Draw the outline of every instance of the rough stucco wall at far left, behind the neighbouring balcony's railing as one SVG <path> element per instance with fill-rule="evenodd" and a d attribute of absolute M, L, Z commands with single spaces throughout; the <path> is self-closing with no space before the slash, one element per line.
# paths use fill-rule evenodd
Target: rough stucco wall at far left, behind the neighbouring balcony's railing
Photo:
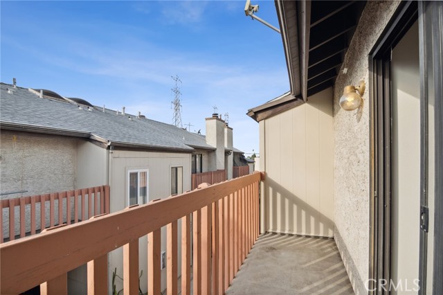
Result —
<path fill-rule="evenodd" d="M 0 196 L 12 199 L 44 193 L 73 190 L 77 182 L 77 145 L 79 140 L 67 136 L 31 134 L 27 132 L 1 131 L 0 189 L 1 193 L 26 190 Z M 55 206 L 58 202 L 55 201 Z M 30 206 L 25 214 L 30 215 Z M 36 209 L 40 215 L 39 206 Z M 49 202 L 46 202 L 46 224 L 49 224 Z M 64 217 L 65 218 L 65 217 Z M 19 208 L 15 209 L 15 235 L 19 234 Z M 58 211 L 55 212 L 58 220 Z M 9 237 L 9 211 L 3 209 L 3 236 Z M 40 229 L 40 219 L 36 220 Z M 26 221 L 26 232 L 30 231 L 30 220 Z"/>

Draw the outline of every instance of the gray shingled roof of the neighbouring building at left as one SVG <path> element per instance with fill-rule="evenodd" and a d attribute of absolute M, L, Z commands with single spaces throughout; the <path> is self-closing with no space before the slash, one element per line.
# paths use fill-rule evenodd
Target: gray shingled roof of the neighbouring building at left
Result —
<path fill-rule="evenodd" d="M 131 119 L 129 119 L 131 118 Z M 205 137 L 179 127 L 96 107 L 89 111 L 73 102 L 39 98 L 37 93 L 1 83 L 1 129 L 103 138 L 111 144 L 192 152 L 215 150 Z"/>

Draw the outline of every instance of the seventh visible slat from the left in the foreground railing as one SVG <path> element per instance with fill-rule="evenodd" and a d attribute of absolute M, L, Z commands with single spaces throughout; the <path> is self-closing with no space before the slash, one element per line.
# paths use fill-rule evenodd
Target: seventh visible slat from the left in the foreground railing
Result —
<path fill-rule="evenodd" d="M 201 212 L 200 210 L 192 213 L 192 294 L 201 294 Z"/>

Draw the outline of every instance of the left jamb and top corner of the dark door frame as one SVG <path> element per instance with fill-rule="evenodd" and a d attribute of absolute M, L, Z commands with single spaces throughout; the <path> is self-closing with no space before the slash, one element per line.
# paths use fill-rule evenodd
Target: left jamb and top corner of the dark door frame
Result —
<path fill-rule="evenodd" d="M 417 2 L 403 1 L 369 55 L 370 84 L 370 294 L 389 294 L 378 288 L 390 282 L 391 252 L 391 77 L 392 48 L 417 21 Z M 418 210 L 418 208 L 417 208 Z"/>

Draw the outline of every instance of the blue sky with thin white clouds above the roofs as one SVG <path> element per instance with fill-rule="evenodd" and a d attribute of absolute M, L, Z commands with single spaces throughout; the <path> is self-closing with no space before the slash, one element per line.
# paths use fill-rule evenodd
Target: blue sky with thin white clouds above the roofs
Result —
<path fill-rule="evenodd" d="M 245 2 L 1 1 L 1 81 L 172 123 L 179 75 L 183 124 L 204 133 L 216 105 L 235 147 L 257 152 L 246 111 L 289 82 L 280 35 L 246 17 Z M 273 1 L 252 3 L 278 26 Z"/>

